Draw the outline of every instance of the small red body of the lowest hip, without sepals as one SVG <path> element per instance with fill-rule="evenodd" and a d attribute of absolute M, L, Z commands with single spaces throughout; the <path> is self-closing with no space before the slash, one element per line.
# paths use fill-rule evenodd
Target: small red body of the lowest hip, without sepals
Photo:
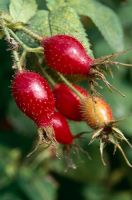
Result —
<path fill-rule="evenodd" d="M 52 126 L 54 128 L 55 138 L 60 144 L 72 144 L 73 135 L 70 131 L 69 125 L 63 115 L 55 112 L 52 118 Z"/>

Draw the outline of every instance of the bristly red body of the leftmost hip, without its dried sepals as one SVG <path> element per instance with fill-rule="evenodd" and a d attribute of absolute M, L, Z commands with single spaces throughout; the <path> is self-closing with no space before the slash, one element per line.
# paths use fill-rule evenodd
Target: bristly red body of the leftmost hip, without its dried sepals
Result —
<path fill-rule="evenodd" d="M 54 97 L 41 75 L 26 70 L 17 72 L 11 88 L 13 98 L 22 112 L 38 127 L 49 125 L 54 114 Z"/>

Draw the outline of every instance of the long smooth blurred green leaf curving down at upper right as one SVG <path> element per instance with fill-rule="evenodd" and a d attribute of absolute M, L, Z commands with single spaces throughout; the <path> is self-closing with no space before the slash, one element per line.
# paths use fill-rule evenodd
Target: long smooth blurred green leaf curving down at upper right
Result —
<path fill-rule="evenodd" d="M 80 15 L 91 18 L 113 50 L 123 50 L 122 26 L 112 9 L 94 0 L 68 0 L 68 3 Z"/>

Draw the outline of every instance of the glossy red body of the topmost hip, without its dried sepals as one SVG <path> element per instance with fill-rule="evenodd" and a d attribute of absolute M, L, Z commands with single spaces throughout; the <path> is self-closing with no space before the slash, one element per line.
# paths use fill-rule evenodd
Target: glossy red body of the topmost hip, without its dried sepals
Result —
<path fill-rule="evenodd" d="M 82 44 L 69 35 L 55 35 L 42 40 L 48 66 L 63 74 L 88 75 L 93 59 Z"/>

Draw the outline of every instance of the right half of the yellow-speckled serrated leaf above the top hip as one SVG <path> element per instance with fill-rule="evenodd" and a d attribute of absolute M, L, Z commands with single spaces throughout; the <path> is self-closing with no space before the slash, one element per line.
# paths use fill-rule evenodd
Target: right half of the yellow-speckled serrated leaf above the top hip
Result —
<path fill-rule="evenodd" d="M 82 42 L 89 55 L 93 56 L 85 30 L 75 10 L 71 7 L 61 7 L 50 12 L 49 24 L 51 34 L 69 34 Z"/>

